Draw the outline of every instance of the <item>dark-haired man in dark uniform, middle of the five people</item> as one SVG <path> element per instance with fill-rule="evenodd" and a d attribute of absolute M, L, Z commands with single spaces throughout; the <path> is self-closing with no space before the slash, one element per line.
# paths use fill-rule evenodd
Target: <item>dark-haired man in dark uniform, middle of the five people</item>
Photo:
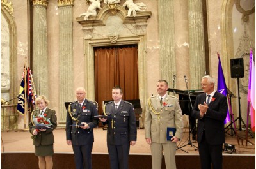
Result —
<path fill-rule="evenodd" d="M 130 145 L 137 139 L 136 118 L 133 105 L 122 100 L 120 87 L 113 87 L 113 101 L 104 105 L 107 118 L 100 119 L 108 124 L 107 145 L 111 169 L 127 169 Z"/>

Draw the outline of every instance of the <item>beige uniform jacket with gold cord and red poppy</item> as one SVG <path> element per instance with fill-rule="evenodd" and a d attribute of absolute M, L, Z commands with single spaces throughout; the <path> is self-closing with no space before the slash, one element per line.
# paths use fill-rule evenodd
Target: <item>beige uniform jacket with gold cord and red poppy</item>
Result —
<path fill-rule="evenodd" d="M 148 99 L 145 112 L 145 138 L 151 138 L 155 143 L 170 143 L 166 138 L 167 127 L 176 128 L 175 137 L 181 138 L 183 121 L 179 101 L 167 95 L 161 106 L 159 97 L 152 96 Z"/>

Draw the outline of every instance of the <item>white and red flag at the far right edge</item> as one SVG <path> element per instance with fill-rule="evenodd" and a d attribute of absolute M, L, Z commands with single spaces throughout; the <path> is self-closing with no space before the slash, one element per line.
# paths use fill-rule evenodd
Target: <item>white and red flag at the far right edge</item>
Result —
<path fill-rule="evenodd" d="M 250 71 L 248 80 L 248 102 L 250 102 L 251 129 L 255 132 L 255 65 L 252 49 L 250 50 Z"/>

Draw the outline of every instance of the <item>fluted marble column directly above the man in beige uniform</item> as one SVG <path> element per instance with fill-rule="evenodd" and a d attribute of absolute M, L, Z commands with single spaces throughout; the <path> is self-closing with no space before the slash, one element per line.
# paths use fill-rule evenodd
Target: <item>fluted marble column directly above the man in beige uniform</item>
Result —
<path fill-rule="evenodd" d="M 158 12 L 160 77 L 171 82 L 176 75 L 173 0 L 159 0 Z"/>

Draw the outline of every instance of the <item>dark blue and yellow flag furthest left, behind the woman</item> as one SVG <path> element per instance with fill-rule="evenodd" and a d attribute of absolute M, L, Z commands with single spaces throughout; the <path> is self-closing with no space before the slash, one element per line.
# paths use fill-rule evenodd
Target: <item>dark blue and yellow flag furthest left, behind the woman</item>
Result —
<path fill-rule="evenodd" d="M 20 91 L 19 91 L 19 98 L 17 104 L 17 111 L 19 114 L 24 115 L 25 113 L 25 104 L 26 104 L 26 67 L 24 66 L 22 72 L 22 80 L 20 83 Z"/>

